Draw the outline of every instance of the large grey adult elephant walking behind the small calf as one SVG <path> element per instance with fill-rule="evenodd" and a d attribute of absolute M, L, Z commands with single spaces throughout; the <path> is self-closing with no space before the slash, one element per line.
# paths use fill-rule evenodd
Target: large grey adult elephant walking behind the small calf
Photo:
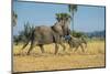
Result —
<path fill-rule="evenodd" d="M 31 34 L 31 39 L 24 44 L 22 50 L 29 44 L 31 41 L 31 46 L 28 51 L 28 55 L 33 50 L 35 45 L 41 47 L 42 53 L 44 53 L 44 44 L 55 43 L 55 54 L 58 51 L 58 44 L 61 44 L 65 51 L 65 45 L 63 43 L 63 38 L 68 35 L 70 30 L 68 28 L 67 21 L 56 22 L 53 27 L 41 25 L 36 27 Z"/>

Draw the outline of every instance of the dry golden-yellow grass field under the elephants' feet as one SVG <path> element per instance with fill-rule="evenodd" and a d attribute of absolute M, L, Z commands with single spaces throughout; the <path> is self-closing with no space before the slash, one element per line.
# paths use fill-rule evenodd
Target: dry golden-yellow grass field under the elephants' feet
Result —
<path fill-rule="evenodd" d="M 68 50 L 63 52 L 59 46 L 58 54 L 55 55 L 54 44 L 44 45 L 46 53 L 41 53 L 38 46 L 34 47 L 30 55 L 25 55 L 30 45 L 22 52 L 20 45 L 13 45 L 13 72 L 30 72 L 30 71 L 51 71 L 51 70 L 67 70 L 67 68 L 87 68 L 87 67 L 105 67 L 105 42 L 91 41 L 88 42 L 85 53 L 78 49 L 76 52 Z M 18 54 L 22 55 L 18 55 Z"/>

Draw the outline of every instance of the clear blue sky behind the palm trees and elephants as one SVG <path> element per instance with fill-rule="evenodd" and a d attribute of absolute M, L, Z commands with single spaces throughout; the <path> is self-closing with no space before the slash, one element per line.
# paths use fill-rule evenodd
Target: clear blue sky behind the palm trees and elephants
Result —
<path fill-rule="evenodd" d="M 13 27 L 13 34 L 19 34 L 26 22 L 34 27 L 53 25 L 56 22 L 55 13 L 69 13 L 67 6 L 13 1 L 12 10 L 18 14 L 18 22 Z M 72 24 L 69 28 L 73 29 Z M 74 30 L 82 32 L 105 30 L 105 7 L 78 6 L 77 12 L 74 15 Z"/>

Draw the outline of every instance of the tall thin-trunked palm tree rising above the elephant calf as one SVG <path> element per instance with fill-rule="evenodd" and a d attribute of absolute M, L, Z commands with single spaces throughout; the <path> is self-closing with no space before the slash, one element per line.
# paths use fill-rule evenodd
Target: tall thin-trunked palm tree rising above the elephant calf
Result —
<path fill-rule="evenodd" d="M 74 31 L 74 14 L 77 11 L 77 4 L 68 4 L 68 11 L 70 12 L 72 25 L 73 25 L 73 31 Z"/>

